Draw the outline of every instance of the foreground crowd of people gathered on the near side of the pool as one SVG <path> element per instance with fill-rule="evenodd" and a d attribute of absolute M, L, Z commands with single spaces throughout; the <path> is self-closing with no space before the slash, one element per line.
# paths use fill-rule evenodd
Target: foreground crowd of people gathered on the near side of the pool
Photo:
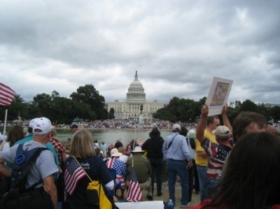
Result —
<path fill-rule="evenodd" d="M 162 125 L 172 129 L 165 139 L 159 127 L 149 127 L 147 140 L 133 139 L 128 145 L 120 140 L 115 145 L 98 143 L 77 124 L 71 126 L 72 138 L 62 143 L 50 120 L 36 118 L 29 121 L 26 133 L 13 126 L 1 144 L 1 178 L 11 175 L 23 143 L 23 150 L 48 148 L 27 174 L 25 187 L 42 180 L 36 188 L 48 194 L 52 208 L 91 208 L 86 194 L 89 179 L 102 180 L 113 201 L 142 201 L 144 191 L 153 201 L 153 196 L 162 196 L 165 161 L 169 199 L 175 205 L 179 198 L 180 208 L 280 208 L 280 138 L 275 127 L 253 112 L 239 113 L 231 125 L 227 111 L 225 105 L 222 125 L 218 116 L 208 115 L 205 105 L 198 124 Z M 130 190 L 135 179 L 137 195 Z M 175 195 L 178 181 L 181 196 Z M 192 204 L 193 191 L 200 194 L 198 206 Z"/>

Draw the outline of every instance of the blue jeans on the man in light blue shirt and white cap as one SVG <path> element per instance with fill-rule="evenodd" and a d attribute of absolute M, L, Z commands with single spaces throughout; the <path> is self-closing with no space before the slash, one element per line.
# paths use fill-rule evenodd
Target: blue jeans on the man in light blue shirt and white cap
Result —
<path fill-rule="evenodd" d="M 167 159 L 167 178 L 169 199 L 172 199 L 175 204 L 175 183 L 176 175 L 178 174 L 181 179 L 181 205 L 188 204 L 188 168 L 186 168 L 186 160 L 173 160 Z"/>

